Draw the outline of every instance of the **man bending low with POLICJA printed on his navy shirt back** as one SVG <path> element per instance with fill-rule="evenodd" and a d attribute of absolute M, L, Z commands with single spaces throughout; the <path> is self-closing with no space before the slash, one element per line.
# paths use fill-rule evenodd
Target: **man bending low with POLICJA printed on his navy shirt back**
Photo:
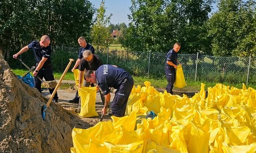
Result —
<path fill-rule="evenodd" d="M 90 83 L 98 83 L 98 87 L 105 95 L 105 105 L 102 114 L 106 114 L 110 102 L 110 88 L 117 89 L 111 103 L 112 114 L 116 117 L 125 115 L 126 105 L 130 92 L 134 86 L 134 80 L 125 70 L 113 65 L 102 65 L 97 71 L 85 71 L 85 80 Z"/>

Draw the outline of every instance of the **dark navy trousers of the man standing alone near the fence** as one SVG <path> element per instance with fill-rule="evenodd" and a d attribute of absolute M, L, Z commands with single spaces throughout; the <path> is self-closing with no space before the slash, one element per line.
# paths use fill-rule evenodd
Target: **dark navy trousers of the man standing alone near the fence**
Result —
<path fill-rule="evenodd" d="M 171 69 L 170 67 L 167 67 L 167 66 L 164 68 L 164 71 L 168 81 L 166 90 L 168 93 L 173 94 L 172 89 L 175 82 L 176 71 L 175 69 Z"/>

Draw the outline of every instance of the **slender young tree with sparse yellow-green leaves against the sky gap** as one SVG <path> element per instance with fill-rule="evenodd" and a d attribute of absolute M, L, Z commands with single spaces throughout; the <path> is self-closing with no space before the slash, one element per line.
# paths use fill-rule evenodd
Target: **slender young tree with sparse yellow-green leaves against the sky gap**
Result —
<path fill-rule="evenodd" d="M 108 47 L 109 40 L 111 36 L 109 33 L 108 24 L 110 24 L 110 18 L 112 14 L 106 16 L 105 1 L 102 0 L 100 8 L 97 10 L 97 16 L 95 24 L 93 25 L 91 36 L 93 38 L 93 43 L 97 45 L 97 50 L 99 47 Z"/>

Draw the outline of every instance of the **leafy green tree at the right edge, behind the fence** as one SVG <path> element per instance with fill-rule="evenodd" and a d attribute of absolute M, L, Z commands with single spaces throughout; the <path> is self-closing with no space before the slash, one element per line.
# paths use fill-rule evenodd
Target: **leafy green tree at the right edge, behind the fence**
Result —
<path fill-rule="evenodd" d="M 214 55 L 255 55 L 255 1 L 221 0 L 219 10 L 208 22 Z"/>

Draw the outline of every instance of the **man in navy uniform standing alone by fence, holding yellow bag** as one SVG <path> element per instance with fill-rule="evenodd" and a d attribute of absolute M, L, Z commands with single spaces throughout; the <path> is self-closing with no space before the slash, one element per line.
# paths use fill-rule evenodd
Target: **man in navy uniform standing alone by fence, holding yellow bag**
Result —
<path fill-rule="evenodd" d="M 168 81 L 166 90 L 170 94 L 173 94 L 172 89 L 173 89 L 175 76 L 176 76 L 175 69 L 177 69 L 177 64 L 179 64 L 178 54 L 177 54 L 179 49 L 180 49 L 180 43 L 175 43 L 173 46 L 173 49 L 171 49 L 167 53 L 167 62 L 164 70 L 165 70 L 165 75 Z"/>

